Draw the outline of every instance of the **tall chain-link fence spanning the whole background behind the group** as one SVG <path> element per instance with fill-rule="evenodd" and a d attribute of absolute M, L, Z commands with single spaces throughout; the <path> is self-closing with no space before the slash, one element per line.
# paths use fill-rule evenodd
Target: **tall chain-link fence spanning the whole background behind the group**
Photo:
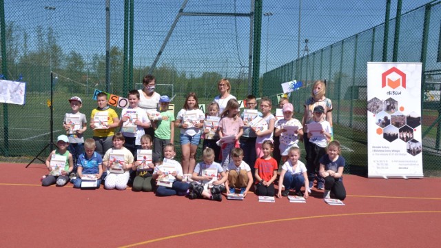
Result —
<path fill-rule="evenodd" d="M 334 111 L 335 133 L 360 144 L 347 145 L 356 152 L 344 155 L 351 167 L 367 163 L 366 115 L 362 114 L 366 113 L 365 61 L 382 61 L 387 1 L 2 2 L 5 29 L 0 31 L 6 42 L 2 43 L 1 73 L 10 80 L 23 76 L 27 95 L 25 105 L 0 108 L 1 161 L 23 158 L 28 162 L 50 141 L 52 71 L 54 136 L 63 133 L 61 123 L 70 110 L 71 96 L 83 99 L 81 112 L 90 121 L 95 89 L 125 96 L 140 87 L 147 73 L 156 76 L 156 92 L 175 96 L 177 110 L 190 91 L 198 94 L 201 103 L 212 101 L 221 78 L 232 82 L 232 94 L 238 99 L 254 92 L 274 101 L 281 92 L 280 83 L 298 79 L 308 83 L 292 97 L 296 111 L 302 112 L 309 83 L 327 79 L 327 96 L 338 110 Z M 431 52 L 427 52 L 425 72 L 426 81 L 432 82 L 431 94 L 439 92 L 438 1 L 403 0 L 398 6 L 399 2 L 390 1 L 387 58 L 392 56 L 398 8 L 402 13 L 398 59 L 420 61 L 427 18 L 424 7 L 418 7 L 430 2 Z M 435 99 L 439 102 L 439 96 Z M 433 121 L 438 121 L 438 102 L 429 112 Z M 439 140 L 437 129 L 435 124 L 427 134 L 433 141 Z M 85 136 L 92 136 L 90 129 Z M 425 168 L 431 164 L 426 158 L 438 152 L 436 145 L 431 147 L 430 153 L 424 151 Z M 43 152 L 48 153 L 49 149 Z"/>

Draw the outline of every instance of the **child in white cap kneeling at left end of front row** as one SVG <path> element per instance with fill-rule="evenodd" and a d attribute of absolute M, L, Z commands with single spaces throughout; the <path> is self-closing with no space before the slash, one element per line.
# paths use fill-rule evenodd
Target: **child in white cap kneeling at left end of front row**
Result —
<path fill-rule="evenodd" d="M 64 186 L 69 182 L 69 174 L 74 169 L 74 162 L 72 161 L 72 154 L 68 151 L 69 138 L 65 135 L 60 135 L 57 138 L 57 149 L 54 149 L 46 158 L 45 165 L 48 167 L 49 174 L 41 180 L 41 186 L 50 186 L 57 183 L 58 186 Z M 50 161 L 53 159 L 59 160 L 64 157 L 64 167 L 58 169 L 52 167 Z"/>

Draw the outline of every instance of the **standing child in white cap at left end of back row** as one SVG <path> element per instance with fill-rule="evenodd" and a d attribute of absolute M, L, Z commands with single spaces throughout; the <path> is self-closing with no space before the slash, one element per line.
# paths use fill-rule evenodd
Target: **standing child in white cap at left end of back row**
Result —
<path fill-rule="evenodd" d="M 88 129 L 88 121 L 85 118 L 85 114 L 79 112 L 81 107 L 83 107 L 83 101 L 78 96 L 72 96 L 69 102 L 72 111 L 64 115 L 63 127 L 69 138 L 68 150 L 72 154 L 74 172 L 76 172 L 76 160 L 84 151 L 83 134 Z"/>

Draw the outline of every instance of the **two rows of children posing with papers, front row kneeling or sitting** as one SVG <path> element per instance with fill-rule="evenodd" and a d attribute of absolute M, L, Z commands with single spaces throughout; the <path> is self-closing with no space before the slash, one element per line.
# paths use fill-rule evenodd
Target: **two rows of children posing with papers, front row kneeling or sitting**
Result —
<path fill-rule="evenodd" d="M 218 104 L 211 103 L 205 116 L 198 108 L 196 94 L 189 93 L 175 120 L 173 114 L 167 112 L 168 96 L 161 96 L 159 119 L 151 118 L 138 107 L 139 98 L 139 92 L 131 90 L 128 94 L 129 107 L 123 109 L 121 118 L 118 118 L 107 105 L 107 94 L 99 93 L 96 96 L 98 107 L 90 116 L 94 135 L 84 140 L 87 121 L 85 115 L 79 112 L 82 101 L 77 96 L 72 97 L 69 100 L 72 112 L 66 114 L 63 121 L 67 135 L 57 138 L 58 149 L 52 151 L 46 160 L 50 174 L 43 178 L 42 185 L 65 185 L 70 180 L 70 174 L 76 173 L 72 179 L 75 188 L 81 187 L 84 175 L 93 175 L 98 180 L 97 188 L 103 180 L 105 189 L 126 189 L 129 184 L 134 192 L 154 191 L 157 196 L 180 195 L 220 201 L 224 191 L 234 194 L 238 189 L 239 194 L 247 196 L 254 189 L 258 196 L 276 195 L 280 198 L 288 196 L 292 190 L 297 196 L 308 198 L 311 174 L 317 174 L 324 178 L 325 198 L 329 198 L 332 192 L 336 198 L 345 199 L 345 187 L 342 185 L 345 160 L 340 156 L 340 143 L 329 143 L 329 123 L 322 118 L 321 106 L 314 108 L 314 122 L 322 125 L 322 130 L 318 130 L 320 134 L 315 134 L 314 130 L 303 134 L 302 124 L 293 118 L 294 107 L 287 98 L 280 99 L 283 117 L 278 119 L 271 114 L 271 100 L 261 99 L 260 112 L 256 114 L 258 122 L 248 118 L 243 120 L 236 99 L 230 99 L 221 113 Z M 255 96 L 247 96 L 248 110 L 256 110 L 257 105 Z M 212 125 L 207 125 L 205 120 L 209 119 L 214 120 Z M 72 128 L 78 123 L 79 127 Z M 115 133 L 116 127 L 121 127 L 121 132 Z M 154 137 L 145 134 L 144 129 L 148 127 L 155 128 Z M 174 160 L 175 127 L 181 129 L 181 163 Z M 307 153 L 313 169 L 305 167 L 299 160 L 298 141 L 302 135 L 307 135 L 309 141 L 316 144 Z M 273 136 L 277 142 L 274 142 Z M 196 164 L 201 138 L 202 161 Z M 276 147 L 274 143 L 278 143 Z M 152 159 L 147 164 L 136 159 L 139 149 L 153 150 Z M 273 153 L 276 159 L 271 156 Z M 119 158 L 112 154 L 119 154 Z M 65 157 L 65 167 L 60 174 L 52 173 L 51 159 L 54 155 Z M 280 158 L 282 167 L 278 192 L 275 192 Z M 116 168 L 119 172 L 114 172 Z M 305 192 L 300 191 L 302 186 L 305 186 Z"/>

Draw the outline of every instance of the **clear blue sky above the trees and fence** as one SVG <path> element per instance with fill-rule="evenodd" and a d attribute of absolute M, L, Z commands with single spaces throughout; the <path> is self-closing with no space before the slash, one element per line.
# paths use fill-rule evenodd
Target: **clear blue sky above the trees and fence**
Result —
<path fill-rule="evenodd" d="M 123 48 L 123 0 L 111 0 L 111 45 Z M 336 43 L 384 22 L 385 0 L 302 1 L 300 56 L 309 39 L 309 52 Z M 403 0 L 402 12 L 429 1 Z M 182 0 L 134 1 L 134 66 L 151 65 L 174 21 Z M 248 0 L 189 0 L 184 12 L 249 12 Z M 299 1 L 263 0 L 261 66 L 264 72 L 297 57 Z M 397 0 L 391 1 L 395 17 Z M 105 53 L 105 0 L 6 0 L 6 21 L 15 21 L 36 44 L 37 25 L 52 25 L 64 52 L 75 50 L 91 59 Z M 56 10 L 45 10 L 54 6 Z M 52 21 L 50 17 L 52 14 Z M 267 44 L 268 37 L 268 46 Z M 266 52 L 268 50 L 268 57 Z M 182 17 L 161 56 L 167 63 L 195 75 L 216 71 L 227 76 L 246 72 L 249 52 L 249 18 Z"/>

